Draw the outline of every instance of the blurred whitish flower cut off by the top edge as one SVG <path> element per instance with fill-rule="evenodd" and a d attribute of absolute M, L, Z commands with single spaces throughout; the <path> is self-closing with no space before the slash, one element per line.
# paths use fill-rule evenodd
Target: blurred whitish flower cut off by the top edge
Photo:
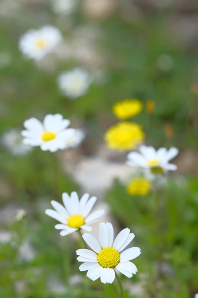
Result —
<path fill-rule="evenodd" d="M 77 0 L 51 0 L 51 6 L 54 12 L 68 15 L 75 10 Z"/>

